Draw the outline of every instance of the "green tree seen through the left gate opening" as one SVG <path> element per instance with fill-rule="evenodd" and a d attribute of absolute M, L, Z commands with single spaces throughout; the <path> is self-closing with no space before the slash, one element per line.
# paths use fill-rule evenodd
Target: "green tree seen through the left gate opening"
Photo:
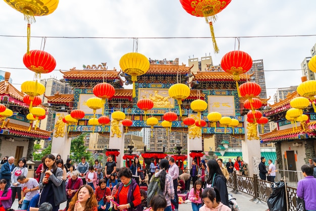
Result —
<path fill-rule="evenodd" d="M 90 159 L 91 153 L 87 151 L 88 147 L 84 145 L 85 136 L 86 133 L 82 133 L 81 135 L 71 140 L 70 158 L 73 162 L 80 162 L 82 156 L 86 157 L 86 161 Z"/>

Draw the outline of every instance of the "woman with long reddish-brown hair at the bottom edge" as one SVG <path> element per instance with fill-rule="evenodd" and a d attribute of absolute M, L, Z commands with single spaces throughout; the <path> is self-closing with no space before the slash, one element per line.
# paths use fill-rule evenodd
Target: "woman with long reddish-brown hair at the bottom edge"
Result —
<path fill-rule="evenodd" d="M 90 185 L 83 185 L 78 189 L 69 203 L 68 211 L 97 211 L 97 201 Z"/>

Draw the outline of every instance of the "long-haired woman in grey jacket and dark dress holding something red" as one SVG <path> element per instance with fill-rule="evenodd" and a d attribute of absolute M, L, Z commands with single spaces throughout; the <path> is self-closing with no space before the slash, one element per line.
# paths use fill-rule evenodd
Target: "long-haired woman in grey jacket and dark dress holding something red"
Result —
<path fill-rule="evenodd" d="M 53 154 L 48 154 L 44 157 L 43 168 L 44 172 L 41 174 L 38 184 L 39 189 L 42 190 L 39 203 L 48 202 L 52 205 L 52 211 L 58 211 L 59 204 L 55 204 L 55 195 L 52 186 L 63 184 L 63 170 L 57 167 Z"/>

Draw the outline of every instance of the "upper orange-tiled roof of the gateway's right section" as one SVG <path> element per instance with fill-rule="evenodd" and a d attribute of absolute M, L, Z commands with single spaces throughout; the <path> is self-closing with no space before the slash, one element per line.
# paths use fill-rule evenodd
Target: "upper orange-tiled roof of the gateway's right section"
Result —
<path fill-rule="evenodd" d="M 253 73 L 254 74 L 254 73 Z M 240 74 L 240 80 L 246 81 L 249 80 L 250 77 L 253 75 L 249 74 Z M 205 72 L 200 71 L 193 73 L 193 80 L 192 81 L 198 81 L 198 80 L 227 80 L 227 81 L 234 81 L 234 76 L 232 74 L 226 73 L 226 72 Z"/>

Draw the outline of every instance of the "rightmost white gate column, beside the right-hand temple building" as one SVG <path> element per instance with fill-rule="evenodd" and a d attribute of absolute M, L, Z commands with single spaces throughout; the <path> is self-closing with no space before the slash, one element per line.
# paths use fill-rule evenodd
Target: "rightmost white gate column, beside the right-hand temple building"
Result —
<path fill-rule="evenodd" d="M 247 115 L 244 115 L 244 120 L 245 137 L 244 140 L 241 141 L 242 160 L 247 163 L 248 175 L 259 175 L 258 165 L 261 157 L 260 140 L 259 138 L 248 139 L 247 133 L 250 132 L 250 128 L 248 128 Z M 256 136 L 259 137 L 258 126 L 256 126 L 256 130 Z"/>

